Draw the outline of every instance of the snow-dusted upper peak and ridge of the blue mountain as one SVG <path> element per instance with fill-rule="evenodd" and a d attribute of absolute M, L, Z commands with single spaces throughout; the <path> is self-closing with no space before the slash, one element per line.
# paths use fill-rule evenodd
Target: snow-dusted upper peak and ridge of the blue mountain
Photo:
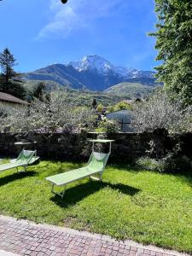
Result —
<path fill-rule="evenodd" d="M 154 73 L 150 71 L 142 71 L 136 68 L 128 67 L 116 67 L 99 55 L 87 55 L 84 56 L 80 61 L 72 61 L 68 63 L 68 65 L 72 65 L 79 72 L 87 70 L 96 70 L 98 73 L 102 75 L 114 73 L 119 77 L 129 79 L 143 76 L 152 78 L 154 76 Z"/>

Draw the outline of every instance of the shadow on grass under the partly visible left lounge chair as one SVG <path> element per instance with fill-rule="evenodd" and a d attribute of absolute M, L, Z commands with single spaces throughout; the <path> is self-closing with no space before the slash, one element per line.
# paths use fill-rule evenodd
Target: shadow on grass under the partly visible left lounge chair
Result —
<path fill-rule="evenodd" d="M 35 176 L 37 172 L 34 171 L 26 171 L 26 172 L 15 172 L 11 175 L 0 177 L 0 187 L 6 185 L 7 183 L 12 183 L 15 180 L 24 178 L 24 177 L 32 177 Z"/>

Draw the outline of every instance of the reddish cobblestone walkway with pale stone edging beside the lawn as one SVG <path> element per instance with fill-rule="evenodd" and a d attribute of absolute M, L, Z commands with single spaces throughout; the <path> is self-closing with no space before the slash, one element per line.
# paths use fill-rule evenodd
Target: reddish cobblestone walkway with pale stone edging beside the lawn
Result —
<path fill-rule="evenodd" d="M 109 236 L 90 234 L 47 224 L 34 224 L 0 216 L 0 256 L 168 256 L 187 255 L 158 247 L 144 247 L 133 241 L 115 241 Z M 3 254 L 4 253 L 4 254 Z"/>

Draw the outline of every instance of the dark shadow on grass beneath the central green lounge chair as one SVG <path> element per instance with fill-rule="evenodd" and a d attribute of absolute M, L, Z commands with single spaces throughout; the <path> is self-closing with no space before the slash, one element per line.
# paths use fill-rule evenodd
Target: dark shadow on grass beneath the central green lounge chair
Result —
<path fill-rule="evenodd" d="M 71 206 L 78 201 L 82 201 L 85 197 L 94 194 L 100 189 L 104 189 L 106 187 L 114 190 L 119 190 L 120 193 L 131 196 L 141 191 L 140 189 L 136 189 L 121 183 L 111 184 L 105 182 L 100 183 L 90 181 L 88 183 L 79 184 L 76 187 L 67 189 L 66 194 L 64 195 L 64 198 L 62 200 L 59 195 L 54 195 L 51 198 L 51 201 L 54 201 L 60 207 Z"/>

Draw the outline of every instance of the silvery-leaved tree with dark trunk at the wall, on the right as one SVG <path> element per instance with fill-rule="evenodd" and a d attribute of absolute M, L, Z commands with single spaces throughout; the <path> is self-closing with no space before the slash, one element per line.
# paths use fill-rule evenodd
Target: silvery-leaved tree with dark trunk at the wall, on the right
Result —
<path fill-rule="evenodd" d="M 169 132 L 191 131 L 191 107 L 173 102 L 166 91 L 156 90 L 147 102 L 137 103 L 132 112 L 132 125 L 137 131 L 151 132 L 150 156 L 164 157 L 169 144 Z"/>

